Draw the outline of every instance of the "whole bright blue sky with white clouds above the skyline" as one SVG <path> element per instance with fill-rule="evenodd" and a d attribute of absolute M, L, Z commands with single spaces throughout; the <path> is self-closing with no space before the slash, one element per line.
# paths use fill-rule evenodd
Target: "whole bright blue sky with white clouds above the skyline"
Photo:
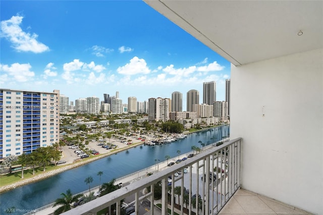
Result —
<path fill-rule="evenodd" d="M 59 89 L 70 101 L 200 92 L 225 99 L 230 63 L 140 1 L 1 1 L 1 88 Z"/>

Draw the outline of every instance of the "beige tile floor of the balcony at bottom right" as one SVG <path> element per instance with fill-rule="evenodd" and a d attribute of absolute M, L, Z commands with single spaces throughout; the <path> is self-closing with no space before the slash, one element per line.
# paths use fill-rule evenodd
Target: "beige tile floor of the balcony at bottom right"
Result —
<path fill-rule="evenodd" d="M 311 214 L 256 193 L 238 190 L 219 214 Z"/>

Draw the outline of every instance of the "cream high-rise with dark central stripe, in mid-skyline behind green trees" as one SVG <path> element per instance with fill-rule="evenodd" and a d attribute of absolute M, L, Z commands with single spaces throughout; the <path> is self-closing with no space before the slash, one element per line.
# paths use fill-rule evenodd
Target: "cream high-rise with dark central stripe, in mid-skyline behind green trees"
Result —
<path fill-rule="evenodd" d="M 149 121 L 166 122 L 170 119 L 170 100 L 169 98 L 149 98 Z"/>

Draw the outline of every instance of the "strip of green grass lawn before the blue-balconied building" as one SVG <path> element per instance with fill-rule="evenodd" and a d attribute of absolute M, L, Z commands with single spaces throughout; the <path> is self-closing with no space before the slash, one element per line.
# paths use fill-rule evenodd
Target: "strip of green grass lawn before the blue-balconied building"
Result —
<path fill-rule="evenodd" d="M 60 169 L 62 167 L 64 167 L 65 165 L 61 165 L 61 166 L 46 166 L 46 172 L 47 171 L 51 171 L 51 170 L 57 170 Z M 28 170 L 24 170 L 24 179 L 28 179 L 28 178 L 32 178 L 36 175 L 39 175 L 43 172 L 43 167 L 37 167 L 35 168 L 35 175 L 32 175 L 32 169 L 28 169 Z M 11 173 L 11 174 L 7 174 L 7 175 L 3 175 L 0 176 L 0 182 L 1 182 L 1 186 L 6 186 L 9 184 L 13 184 L 15 182 L 21 181 L 21 171 L 19 172 L 15 172 L 15 173 Z"/>

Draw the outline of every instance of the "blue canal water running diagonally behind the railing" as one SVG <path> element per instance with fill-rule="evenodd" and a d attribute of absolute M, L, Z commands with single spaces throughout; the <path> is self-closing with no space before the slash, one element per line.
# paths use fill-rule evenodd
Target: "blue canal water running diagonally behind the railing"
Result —
<path fill-rule="evenodd" d="M 188 153 L 192 151 L 193 145 L 200 147 L 199 141 L 205 145 L 220 141 L 223 136 L 228 136 L 229 133 L 230 126 L 224 125 L 188 134 L 187 138 L 170 144 L 136 146 L 48 179 L 18 187 L 0 195 L 0 214 L 7 214 L 5 212 L 7 208 L 12 207 L 16 209 L 11 214 L 24 214 L 23 211 L 28 212 L 54 202 L 61 197 L 61 193 L 65 193 L 68 189 L 71 189 L 73 194 L 87 190 L 88 185 L 84 180 L 88 176 L 93 178 L 91 187 L 98 186 L 100 184 L 99 176 L 97 176 L 99 171 L 103 172 L 101 184 L 109 182 L 113 178 L 117 179 L 153 166 L 155 159 L 163 162 L 166 160 L 166 155 L 172 158 L 176 157 L 178 150 L 181 151 L 181 154 Z"/>

